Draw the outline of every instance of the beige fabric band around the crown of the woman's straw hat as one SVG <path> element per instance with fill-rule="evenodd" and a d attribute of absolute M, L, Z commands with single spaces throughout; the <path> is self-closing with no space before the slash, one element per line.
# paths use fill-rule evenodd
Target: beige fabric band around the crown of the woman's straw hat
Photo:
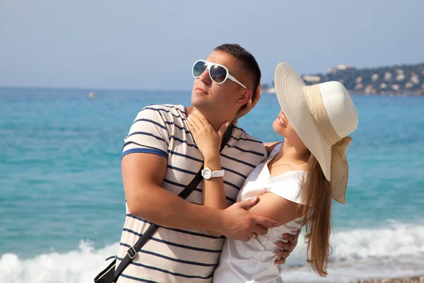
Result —
<path fill-rule="evenodd" d="M 322 102 L 319 85 L 315 84 L 314 86 L 307 86 L 305 93 L 307 97 L 307 104 L 310 108 L 314 124 L 322 138 L 331 146 L 336 144 L 337 141 L 341 140 L 341 137 L 338 136 L 336 130 L 334 130 L 334 127 L 329 120 L 324 103 Z"/>

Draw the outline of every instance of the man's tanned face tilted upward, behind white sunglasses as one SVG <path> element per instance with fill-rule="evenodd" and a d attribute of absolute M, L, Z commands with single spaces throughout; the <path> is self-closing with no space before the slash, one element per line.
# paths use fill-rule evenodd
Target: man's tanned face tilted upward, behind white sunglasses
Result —
<path fill-rule="evenodd" d="M 246 86 L 246 78 L 241 76 L 240 62 L 232 55 L 213 51 L 206 61 L 225 66 L 232 76 Z M 194 79 L 192 91 L 192 105 L 202 112 L 213 112 L 214 115 L 220 113 L 237 112 L 240 108 L 239 98 L 242 96 L 245 88 L 238 83 L 227 79 L 224 83 L 217 84 L 211 80 L 209 71 L 206 70 L 199 78 Z"/>

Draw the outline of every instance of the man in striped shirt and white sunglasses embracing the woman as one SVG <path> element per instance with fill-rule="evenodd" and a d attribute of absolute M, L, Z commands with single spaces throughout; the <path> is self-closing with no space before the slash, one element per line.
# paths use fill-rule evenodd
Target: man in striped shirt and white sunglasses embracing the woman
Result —
<path fill-rule="evenodd" d="M 237 112 L 248 112 L 257 102 L 255 94 L 259 98 L 255 92 L 259 90 L 261 71 L 252 54 L 240 45 L 216 47 L 206 62 L 195 64 L 193 74 L 192 107 L 143 108 L 125 139 L 122 178 L 127 212 L 117 265 L 148 229 L 149 222 L 161 227 L 138 251 L 118 282 L 211 282 L 224 236 L 249 241 L 279 225 L 248 212 L 257 198 L 232 204 L 247 175 L 267 156 L 264 144 L 239 127 L 233 129 L 221 151 L 222 168 L 211 168 L 224 170 L 225 195 L 232 205 L 223 210 L 199 205 L 207 180 L 186 200 L 177 197 L 203 163 L 189 132 L 187 116 L 198 110 L 219 129 L 224 122 L 234 120 Z M 224 236 L 211 236 L 206 231 Z M 297 238 L 291 236 L 289 243 L 279 244 L 285 246 L 277 252 L 281 256 L 278 263 L 283 263 L 293 250 Z"/>

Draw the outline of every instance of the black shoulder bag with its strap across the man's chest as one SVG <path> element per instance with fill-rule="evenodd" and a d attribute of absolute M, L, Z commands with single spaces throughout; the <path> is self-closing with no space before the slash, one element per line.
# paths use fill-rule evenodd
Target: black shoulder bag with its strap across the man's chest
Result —
<path fill-rule="evenodd" d="M 220 151 L 223 150 L 225 144 L 228 143 L 230 140 L 232 133 L 232 124 L 228 127 L 227 131 L 225 131 L 225 134 L 223 136 L 223 141 L 221 142 Z M 186 199 L 193 190 L 199 185 L 199 183 L 202 180 L 201 171 L 204 166 L 201 166 L 201 169 L 199 172 L 197 172 L 196 177 L 192 180 L 192 182 L 187 185 L 187 187 L 182 190 L 182 192 L 179 193 L 179 197 L 182 197 L 183 199 Z M 95 277 L 94 282 L 96 283 L 114 283 L 117 281 L 118 277 L 122 274 L 124 269 L 127 265 L 131 263 L 131 261 L 136 257 L 137 253 L 141 248 L 143 248 L 144 244 L 148 241 L 151 236 L 153 236 L 153 233 L 155 233 L 156 230 L 158 230 L 159 226 L 156 224 L 151 224 L 151 226 L 147 229 L 146 233 L 143 233 L 143 236 L 139 238 L 139 241 L 135 243 L 134 246 L 131 246 L 128 251 L 126 252 L 125 258 L 122 260 L 122 262 L 118 265 L 117 269 L 115 270 L 115 266 L 117 263 L 117 260 L 114 256 L 107 258 L 106 260 L 110 260 L 111 258 L 115 258 L 112 263 L 105 268 L 105 270 L 102 270 L 102 272 L 99 273 L 98 276 Z"/>

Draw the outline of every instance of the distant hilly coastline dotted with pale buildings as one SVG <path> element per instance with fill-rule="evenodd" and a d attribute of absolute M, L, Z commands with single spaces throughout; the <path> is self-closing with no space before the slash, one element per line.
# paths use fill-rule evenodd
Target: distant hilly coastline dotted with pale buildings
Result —
<path fill-rule="evenodd" d="M 424 63 L 371 69 L 356 69 L 341 64 L 327 69 L 326 74 L 301 77 L 307 86 L 325 81 L 340 81 L 351 94 L 424 96 Z M 275 93 L 273 82 L 264 83 L 261 93 Z"/>

